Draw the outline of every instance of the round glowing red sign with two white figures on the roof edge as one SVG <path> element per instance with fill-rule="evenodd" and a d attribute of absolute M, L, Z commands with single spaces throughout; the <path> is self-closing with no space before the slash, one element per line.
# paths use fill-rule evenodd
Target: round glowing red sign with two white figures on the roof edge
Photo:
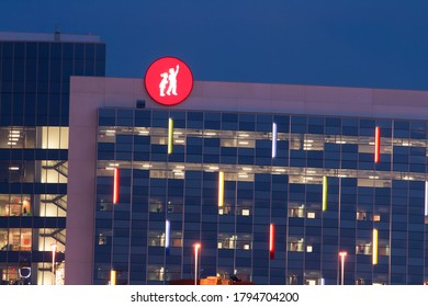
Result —
<path fill-rule="evenodd" d="M 193 88 L 193 76 L 181 59 L 162 57 L 149 66 L 144 84 L 154 101 L 174 105 L 189 96 Z"/>

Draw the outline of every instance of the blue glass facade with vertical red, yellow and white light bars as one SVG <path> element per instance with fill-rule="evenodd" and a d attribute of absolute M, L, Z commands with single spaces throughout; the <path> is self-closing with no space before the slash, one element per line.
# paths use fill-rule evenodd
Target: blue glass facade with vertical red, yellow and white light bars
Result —
<path fill-rule="evenodd" d="M 110 107 L 98 121 L 93 284 L 111 270 L 117 284 L 428 281 L 427 122 Z"/>

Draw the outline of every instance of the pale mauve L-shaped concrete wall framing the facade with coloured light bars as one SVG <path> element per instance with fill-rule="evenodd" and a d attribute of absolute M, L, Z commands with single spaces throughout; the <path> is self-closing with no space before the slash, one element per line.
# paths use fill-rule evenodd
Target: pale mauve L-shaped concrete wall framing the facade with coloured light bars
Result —
<path fill-rule="evenodd" d="M 313 86 L 194 82 L 176 106 L 154 102 L 142 79 L 71 77 L 66 284 L 91 284 L 97 110 L 104 106 L 428 120 L 428 92 Z"/>

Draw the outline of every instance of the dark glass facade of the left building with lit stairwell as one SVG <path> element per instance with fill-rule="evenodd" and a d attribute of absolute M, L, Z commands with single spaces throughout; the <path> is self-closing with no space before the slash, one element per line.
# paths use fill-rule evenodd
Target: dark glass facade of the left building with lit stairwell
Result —
<path fill-rule="evenodd" d="M 61 283 L 70 76 L 104 69 L 103 43 L 0 42 L 1 284 Z"/>

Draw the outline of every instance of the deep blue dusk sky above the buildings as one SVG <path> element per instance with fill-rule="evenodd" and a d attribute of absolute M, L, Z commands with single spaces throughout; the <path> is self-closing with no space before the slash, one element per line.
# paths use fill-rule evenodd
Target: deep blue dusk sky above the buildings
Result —
<path fill-rule="evenodd" d="M 100 35 L 106 75 L 428 90 L 427 0 L 1 0 L 0 31 Z"/>

